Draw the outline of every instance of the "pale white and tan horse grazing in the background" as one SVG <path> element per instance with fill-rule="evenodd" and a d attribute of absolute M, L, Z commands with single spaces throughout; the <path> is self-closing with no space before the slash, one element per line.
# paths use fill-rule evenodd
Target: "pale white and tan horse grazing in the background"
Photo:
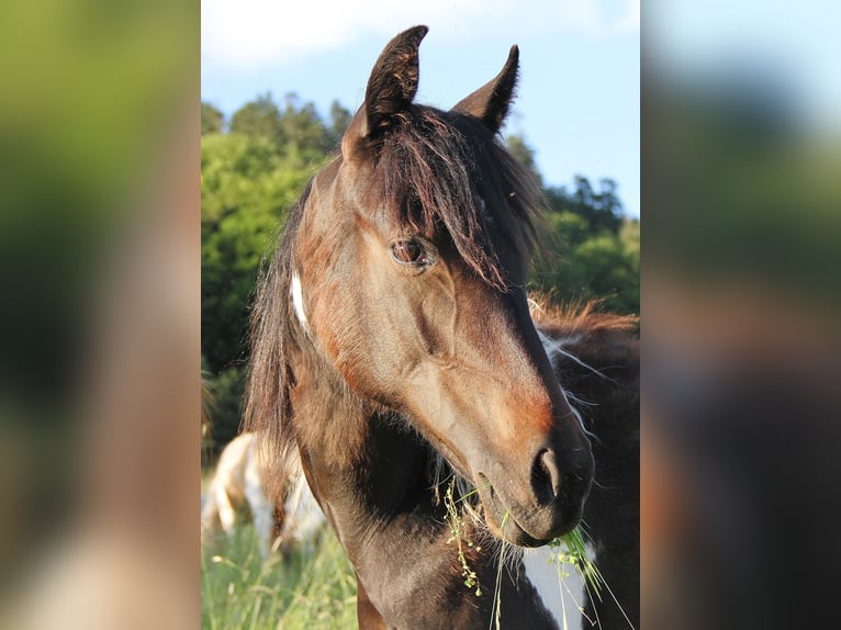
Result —
<path fill-rule="evenodd" d="M 244 432 L 222 450 L 202 504 L 202 544 L 211 544 L 220 529 L 233 536 L 237 513 L 247 507 L 262 559 L 270 559 L 273 551 L 288 556 L 293 549 L 312 547 L 317 541 L 324 515 L 294 457 L 284 462 L 287 483 L 280 499 L 268 494 L 259 448 L 258 436 Z"/>

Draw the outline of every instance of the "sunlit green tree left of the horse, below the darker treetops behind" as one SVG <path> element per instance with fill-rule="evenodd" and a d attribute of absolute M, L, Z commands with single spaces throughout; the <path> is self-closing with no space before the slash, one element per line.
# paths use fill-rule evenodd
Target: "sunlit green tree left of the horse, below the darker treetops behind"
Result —
<path fill-rule="evenodd" d="M 324 164 L 302 166 L 263 136 L 202 137 L 202 356 L 214 383 L 213 443 L 239 427 L 248 316 L 258 268 Z"/>

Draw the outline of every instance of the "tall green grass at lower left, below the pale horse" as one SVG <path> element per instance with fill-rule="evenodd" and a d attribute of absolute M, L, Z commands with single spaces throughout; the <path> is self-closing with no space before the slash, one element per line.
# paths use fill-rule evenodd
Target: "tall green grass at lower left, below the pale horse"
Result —
<path fill-rule="evenodd" d="M 202 630 L 356 628 L 356 578 L 336 537 L 263 563 L 250 524 L 202 550 Z"/>

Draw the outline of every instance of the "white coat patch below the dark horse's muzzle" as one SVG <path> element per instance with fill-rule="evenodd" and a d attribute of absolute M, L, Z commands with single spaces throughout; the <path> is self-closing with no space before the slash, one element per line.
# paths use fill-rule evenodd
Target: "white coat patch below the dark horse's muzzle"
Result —
<path fill-rule="evenodd" d="M 595 551 L 587 544 L 587 558 L 595 563 Z M 583 630 L 590 628 L 585 622 L 582 610 L 584 608 L 585 589 L 584 583 L 575 569 L 568 564 L 550 563 L 551 547 L 526 549 L 523 552 L 523 566 L 526 577 L 538 593 L 540 600 L 552 615 L 558 628 L 568 630 Z M 569 575 L 561 577 L 558 572 Z M 564 625 L 565 619 L 565 625 Z"/>

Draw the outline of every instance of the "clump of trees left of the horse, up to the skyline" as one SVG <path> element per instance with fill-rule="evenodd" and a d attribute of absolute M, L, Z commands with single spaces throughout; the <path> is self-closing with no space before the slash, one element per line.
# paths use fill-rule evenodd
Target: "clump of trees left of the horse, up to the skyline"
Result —
<path fill-rule="evenodd" d="M 214 109 L 202 105 L 208 127 L 222 131 Z M 266 93 L 234 113 L 228 134 L 202 137 L 202 355 L 216 390 L 215 445 L 233 437 L 242 417 L 260 261 L 306 181 L 338 146 L 334 130 L 350 119 L 338 103 L 330 115 L 327 127 L 312 103 L 288 94 L 281 111 Z"/>

